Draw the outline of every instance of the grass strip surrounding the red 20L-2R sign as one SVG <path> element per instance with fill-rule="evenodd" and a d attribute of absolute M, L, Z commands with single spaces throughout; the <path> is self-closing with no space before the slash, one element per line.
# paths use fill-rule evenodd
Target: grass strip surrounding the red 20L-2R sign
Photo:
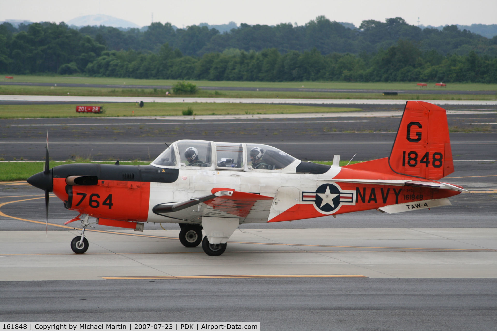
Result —
<path fill-rule="evenodd" d="M 122 117 L 122 116 L 182 116 L 190 107 L 195 115 L 253 115 L 293 113 L 335 113 L 360 111 L 358 108 L 309 107 L 243 103 L 135 103 L 86 104 L 103 106 L 103 114 L 76 113 L 76 105 L 0 105 L 0 118 L 60 118 L 60 117 Z M 134 113 L 133 113 L 134 112 Z"/>

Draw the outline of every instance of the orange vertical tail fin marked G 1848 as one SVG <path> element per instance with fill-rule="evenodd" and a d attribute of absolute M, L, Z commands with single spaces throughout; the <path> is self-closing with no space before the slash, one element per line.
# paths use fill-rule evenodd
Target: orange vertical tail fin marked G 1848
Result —
<path fill-rule="evenodd" d="M 431 180 L 453 173 L 445 109 L 408 101 L 388 163 L 398 174 Z"/>

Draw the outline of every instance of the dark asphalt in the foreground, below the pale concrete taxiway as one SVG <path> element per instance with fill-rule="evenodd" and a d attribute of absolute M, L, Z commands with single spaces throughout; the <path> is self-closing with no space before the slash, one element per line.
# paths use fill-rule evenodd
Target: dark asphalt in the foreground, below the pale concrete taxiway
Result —
<path fill-rule="evenodd" d="M 491 331 L 497 322 L 494 279 L 13 281 L 0 288 L 0 321 L 9 322 L 236 321 L 267 331 Z"/>

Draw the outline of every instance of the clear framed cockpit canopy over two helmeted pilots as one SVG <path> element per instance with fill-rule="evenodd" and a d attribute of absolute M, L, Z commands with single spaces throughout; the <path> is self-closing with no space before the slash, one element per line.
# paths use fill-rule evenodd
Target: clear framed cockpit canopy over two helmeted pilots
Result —
<path fill-rule="evenodd" d="M 160 168 L 302 173 L 297 170 L 300 164 L 300 160 L 269 145 L 205 140 L 175 141 L 151 163 Z M 313 173 L 309 166 L 305 172 Z M 322 171 L 323 166 L 319 166 Z"/>

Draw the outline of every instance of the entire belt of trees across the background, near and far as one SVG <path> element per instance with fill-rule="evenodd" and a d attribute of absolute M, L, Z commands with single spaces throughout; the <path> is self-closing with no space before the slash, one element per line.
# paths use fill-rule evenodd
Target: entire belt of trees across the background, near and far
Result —
<path fill-rule="evenodd" d="M 453 26 L 442 31 L 421 30 L 401 18 L 385 23 L 363 21 L 359 31 L 320 16 L 302 27 L 242 24 L 222 35 L 205 26 L 174 31 L 169 23 L 153 23 L 145 32 L 124 31 L 131 31 L 136 38 L 128 38 L 128 46 L 120 50 L 109 45 L 110 40 L 119 38 L 90 33 L 91 29 L 102 32 L 114 28 L 78 31 L 64 23 L 33 23 L 16 31 L 9 25 L 0 25 L 0 72 L 4 73 L 180 80 L 497 83 L 497 56 L 492 54 L 492 50 L 497 52 L 496 37 L 487 39 Z M 329 33 L 330 29 L 335 33 Z M 286 35 L 300 34 L 300 39 L 284 38 L 285 31 Z M 420 39 L 419 33 L 441 39 Z M 154 49 L 135 49 L 133 43 L 140 40 Z M 218 46 L 213 46 L 213 40 Z M 464 47 L 467 51 L 456 52 Z"/>

